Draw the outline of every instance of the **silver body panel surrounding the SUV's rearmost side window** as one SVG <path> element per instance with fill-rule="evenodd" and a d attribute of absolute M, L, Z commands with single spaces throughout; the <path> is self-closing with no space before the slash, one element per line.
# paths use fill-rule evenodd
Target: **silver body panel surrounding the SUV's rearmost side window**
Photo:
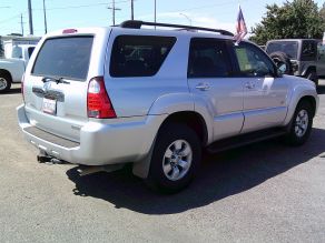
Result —
<path fill-rule="evenodd" d="M 160 70 L 155 75 L 115 78 L 109 73 L 111 49 L 115 38 L 120 34 L 165 36 L 176 37 L 177 40 L 160 67 Z M 156 33 L 155 31 L 139 32 L 139 30 L 132 29 L 114 29 L 107 50 L 105 64 L 106 88 L 117 117 L 148 115 L 152 113 L 162 114 L 166 112 L 164 109 L 154 109 L 150 111 L 150 108 L 155 105 L 154 103 L 161 99 L 161 97 L 167 94 L 188 95 L 188 38 L 181 34 L 174 34 L 170 31 L 168 33 L 161 33 L 160 31 Z"/>

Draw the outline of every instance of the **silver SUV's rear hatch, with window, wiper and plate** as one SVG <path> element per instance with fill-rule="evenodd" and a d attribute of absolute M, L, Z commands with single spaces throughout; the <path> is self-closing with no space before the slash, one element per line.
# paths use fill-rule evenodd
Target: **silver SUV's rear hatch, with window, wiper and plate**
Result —
<path fill-rule="evenodd" d="M 72 30 L 41 41 L 23 81 L 26 113 L 32 125 L 79 141 L 88 121 L 88 83 L 104 73 L 108 36 L 109 29 Z"/>

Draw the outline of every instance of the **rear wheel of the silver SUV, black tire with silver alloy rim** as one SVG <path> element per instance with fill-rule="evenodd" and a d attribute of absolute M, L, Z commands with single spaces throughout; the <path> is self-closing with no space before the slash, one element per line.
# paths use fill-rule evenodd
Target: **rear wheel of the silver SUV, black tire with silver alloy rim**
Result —
<path fill-rule="evenodd" d="M 166 124 L 157 135 L 146 182 L 155 191 L 179 192 L 194 179 L 200 156 L 201 145 L 195 131 L 184 124 Z"/>

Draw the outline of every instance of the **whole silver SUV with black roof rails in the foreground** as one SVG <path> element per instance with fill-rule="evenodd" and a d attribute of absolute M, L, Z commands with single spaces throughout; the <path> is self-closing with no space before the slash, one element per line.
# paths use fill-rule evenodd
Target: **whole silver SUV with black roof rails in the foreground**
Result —
<path fill-rule="evenodd" d="M 17 109 L 39 160 L 86 165 L 85 173 L 131 163 L 154 188 L 176 192 L 198 171 L 203 148 L 307 140 L 318 104 L 313 82 L 280 74 L 257 45 L 235 44 L 227 31 L 145 24 L 154 23 L 43 37 Z"/>

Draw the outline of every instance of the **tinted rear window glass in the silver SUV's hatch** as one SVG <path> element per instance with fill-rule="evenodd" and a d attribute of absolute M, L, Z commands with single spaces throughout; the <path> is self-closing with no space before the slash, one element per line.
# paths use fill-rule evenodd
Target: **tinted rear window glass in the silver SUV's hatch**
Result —
<path fill-rule="evenodd" d="M 93 37 L 48 39 L 36 59 L 32 74 L 85 81 Z"/>

